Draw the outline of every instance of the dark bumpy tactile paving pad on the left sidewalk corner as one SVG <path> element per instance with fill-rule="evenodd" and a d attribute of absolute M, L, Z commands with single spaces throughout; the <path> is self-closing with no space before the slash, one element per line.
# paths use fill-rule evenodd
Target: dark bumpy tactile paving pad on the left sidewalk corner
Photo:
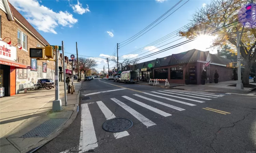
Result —
<path fill-rule="evenodd" d="M 21 138 L 47 137 L 52 132 L 55 132 L 55 130 L 66 120 L 66 118 L 50 118 L 21 136 Z"/>

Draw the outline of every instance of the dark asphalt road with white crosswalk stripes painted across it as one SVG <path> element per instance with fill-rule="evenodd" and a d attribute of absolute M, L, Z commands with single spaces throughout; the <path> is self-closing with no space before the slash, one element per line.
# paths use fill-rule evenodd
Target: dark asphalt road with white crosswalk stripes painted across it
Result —
<path fill-rule="evenodd" d="M 37 152 L 256 151 L 255 96 L 165 90 L 169 89 L 107 79 L 82 82 L 81 97 L 91 99 L 81 100 L 74 122 Z M 133 122 L 122 132 L 123 137 L 102 129 L 102 124 L 113 117 Z"/>

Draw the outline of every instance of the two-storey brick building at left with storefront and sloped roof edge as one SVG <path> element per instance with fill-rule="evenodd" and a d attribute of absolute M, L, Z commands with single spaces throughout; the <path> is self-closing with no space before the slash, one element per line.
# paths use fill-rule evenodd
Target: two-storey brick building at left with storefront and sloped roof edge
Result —
<path fill-rule="evenodd" d="M 50 44 L 8 0 L 0 1 L 0 15 L 0 50 L 5 47 L 11 54 L 11 57 L 8 57 L 3 50 L 0 52 L 0 87 L 4 87 L 4 95 L 12 96 L 23 92 L 24 84 L 37 83 L 41 78 L 53 79 L 53 61 L 37 61 L 29 57 L 30 48 Z M 7 44 L 9 41 L 11 45 Z M 31 66 L 31 69 L 27 69 L 27 66 Z"/>

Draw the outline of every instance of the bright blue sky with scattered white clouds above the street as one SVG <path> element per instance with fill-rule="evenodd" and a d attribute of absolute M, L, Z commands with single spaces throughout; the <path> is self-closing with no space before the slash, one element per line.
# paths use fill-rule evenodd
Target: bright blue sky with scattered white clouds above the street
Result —
<path fill-rule="evenodd" d="M 70 57 L 71 54 L 76 55 L 77 42 L 79 56 L 95 59 L 98 64 L 95 68 L 98 71 L 101 71 L 103 66 L 108 68 L 107 57 L 112 59 L 117 57 L 117 43 L 119 43 L 119 61 L 122 62 L 126 58 L 136 59 L 185 41 L 186 38 L 177 40 L 181 37 L 173 33 L 169 40 L 152 44 L 190 23 L 193 13 L 205 7 L 210 1 L 183 0 L 177 4 L 178 2 L 175 0 L 10 0 L 10 3 L 49 44 L 61 46 L 61 41 L 64 41 L 65 56 Z M 150 26 L 175 4 L 177 5 L 170 12 Z M 155 27 L 152 28 L 153 26 Z M 144 32 L 132 37 L 146 27 L 148 29 Z M 130 37 L 133 39 L 129 39 Z M 176 41 L 171 43 L 174 40 Z M 206 49 L 211 45 L 211 40 L 212 37 L 202 36 L 185 45 L 141 59 L 139 63 L 191 49 L 216 53 L 216 49 Z M 114 66 L 116 67 L 115 62 L 110 61 L 110 70 Z"/>

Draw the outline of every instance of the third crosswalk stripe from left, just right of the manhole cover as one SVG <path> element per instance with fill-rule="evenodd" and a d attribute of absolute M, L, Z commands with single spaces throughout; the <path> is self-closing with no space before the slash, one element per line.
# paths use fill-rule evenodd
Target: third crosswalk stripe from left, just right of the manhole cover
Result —
<path fill-rule="evenodd" d="M 151 120 L 149 120 L 148 118 L 146 118 L 145 116 L 143 116 L 142 114 L 140 114 L 139 112 L 135 111 L 134 109 L 132 109 L 131 107 L 127 106 L 125 103 L 115 99 L 115 98 L 111 98 L 111 100 L 113 100 L 115 103 L 117 103 L 119 106 L 123 107 L 127 112 L 129 112 L 132 116 L 134 116 L 135 118 L 137 118 L 139 121 L 141 121 L 144 125 L 146 125 L 147 127 L 149 126 L 153 126 L 156 125 L 154 122 L 152 122 Z"/>

